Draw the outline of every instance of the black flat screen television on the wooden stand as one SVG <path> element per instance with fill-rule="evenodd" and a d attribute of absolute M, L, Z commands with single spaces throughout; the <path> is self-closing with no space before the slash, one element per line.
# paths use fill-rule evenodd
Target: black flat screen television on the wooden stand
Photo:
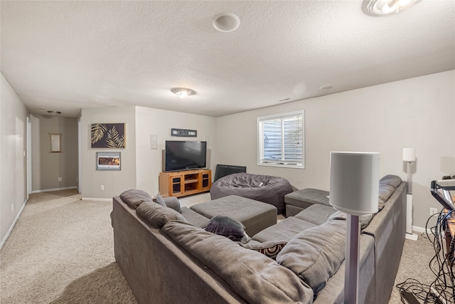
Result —
<path fill-rule="evenodd" d="M 166 140 L 164 171 L 205 168 L 207 142 Z"/>

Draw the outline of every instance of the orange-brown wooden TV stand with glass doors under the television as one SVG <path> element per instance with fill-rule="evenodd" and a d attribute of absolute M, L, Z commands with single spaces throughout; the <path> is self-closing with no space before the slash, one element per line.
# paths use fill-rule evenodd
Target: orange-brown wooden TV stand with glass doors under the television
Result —
<path fill-rule="evenodd" d="M 160 172 L 159 174 L 159 193 L 163 197 L 208 192 L 211 186 L 212 170 L 210 169 Z"/>

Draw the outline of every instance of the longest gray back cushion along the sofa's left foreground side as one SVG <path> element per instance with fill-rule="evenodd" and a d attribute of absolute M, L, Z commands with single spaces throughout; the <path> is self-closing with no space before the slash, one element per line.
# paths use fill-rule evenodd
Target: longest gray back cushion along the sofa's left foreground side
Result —
<path fill-rule="evenodd" d="M 311 288 L 288 268 L 262 253 L 180 221 L 169 221 L 161 231 L 246 303 L 311 303 L 313 300 Z"/>

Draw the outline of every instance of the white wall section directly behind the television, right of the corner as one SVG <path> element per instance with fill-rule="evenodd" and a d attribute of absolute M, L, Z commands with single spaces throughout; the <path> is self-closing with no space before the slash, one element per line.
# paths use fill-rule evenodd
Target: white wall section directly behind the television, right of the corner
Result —
<path fill-rule="evenodd" d="M 136 111 L 136 168 L 137 189 L 150 194 L 159 192 L 159 172 L 162 171 L 162 152 L 166 140 L 207 141 L 207 166 L 216 166 L 216 118 L 137 107 Z M 198 137 L 171 137 L 171 128 L 197 130 Z M 150 135 L 157 135 L 158 149 L 150 149 Z M 213 172 L 214 174 L 214 172 Z"/>

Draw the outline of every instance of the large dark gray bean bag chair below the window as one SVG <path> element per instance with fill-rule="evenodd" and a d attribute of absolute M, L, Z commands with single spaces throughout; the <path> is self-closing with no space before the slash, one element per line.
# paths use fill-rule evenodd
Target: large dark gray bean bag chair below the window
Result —
<path fill-rule="evenodd" d="M 277 207 L 278 214 L 284 213 L 284 195 L 292 192 L 291 184 L 283 177 L 235 173 L 221 177 L 212 184 L 210 198 L 219 199 L 228 195 L 238 195 L 255 199 Z"/>

